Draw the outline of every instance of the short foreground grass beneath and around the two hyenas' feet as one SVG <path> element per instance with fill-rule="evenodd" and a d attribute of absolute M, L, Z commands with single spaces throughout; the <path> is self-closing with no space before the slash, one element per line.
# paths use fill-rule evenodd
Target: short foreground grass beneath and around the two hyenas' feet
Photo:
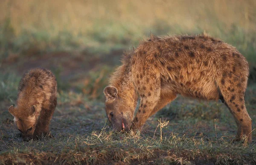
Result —
<path fill-rule="evenodd" d="M 20 77 L 6 82 L 14 89 Z M 16 82 L 16 83 L 10 83 Z M 253 144 L 232 142 L 236 123 L 224 104 L 178 97 L 150 117 L 144 131 L 134 134 L 111 130 L 103 102 L 86 94 L 60 91 L 52 118 L 53 138 L 23 142 L 7 108 L 16 99 L 9 91 L 0 102 L 0 164 L 254 164 Z M 249 86 L 246 106 L 256 128 L 256 87 Z M 82 114 L 82 115 L 81 115 Z M 161 121 L 161 131 L 160 122 Z M 164 122 L 169 121 L 163 126 Z"/>

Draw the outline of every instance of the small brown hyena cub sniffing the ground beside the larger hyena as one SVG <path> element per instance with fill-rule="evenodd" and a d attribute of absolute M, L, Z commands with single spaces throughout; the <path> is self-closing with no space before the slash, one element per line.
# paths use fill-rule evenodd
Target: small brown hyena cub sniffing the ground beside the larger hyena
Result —
<path fill-rule="evenodd" d="M 48 69 L 35 68 L 20 80 L 17 106 L 9 107 L 23 140 L 49 134 L 49 123 L 57 105 L 57 83 Z"/>

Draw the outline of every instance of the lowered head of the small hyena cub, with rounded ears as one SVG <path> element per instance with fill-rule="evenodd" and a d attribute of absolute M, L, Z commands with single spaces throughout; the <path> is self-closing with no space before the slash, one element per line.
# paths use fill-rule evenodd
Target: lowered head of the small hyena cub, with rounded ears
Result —
<path fill-rule="evenodd" d="M 37 123 L 35 117 L 36 106 L 33 105 L 24 110 L 23 108 L 14 107 L 12 105 L 9 107 L 8 111 L 14 117 L 15 125 L 17 125 L 23 140 L 31 140 Z"/>

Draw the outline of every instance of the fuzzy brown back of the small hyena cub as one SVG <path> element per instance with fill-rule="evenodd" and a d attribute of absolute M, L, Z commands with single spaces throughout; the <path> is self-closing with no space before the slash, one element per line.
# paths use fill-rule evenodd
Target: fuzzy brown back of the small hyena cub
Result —
<path fill-rule="evenodd" d="M 31 69 L 20 80 L 17 100 L 20 105 L 40 104 L 42 108 L 50 109 L 56 97 L 57 83 L 55 76 L 48 69 Z"/>

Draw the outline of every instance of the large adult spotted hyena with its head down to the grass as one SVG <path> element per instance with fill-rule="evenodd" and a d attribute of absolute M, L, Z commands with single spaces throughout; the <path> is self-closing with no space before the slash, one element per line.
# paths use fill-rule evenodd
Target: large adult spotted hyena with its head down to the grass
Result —
<path fill-rule="evenodd" d="M 236 140 L 252 141 L 252 120 L 244 93 L 249 74 L 244 56 L 233 46 L 206 34 L 155 37 L 126 53 L 104 89 L 106 113 L 116 130 L 140 129 L 177 94 L 221 99 L 238 126 Z M 138 94 L 140 107 L 134 117 Z"/>

